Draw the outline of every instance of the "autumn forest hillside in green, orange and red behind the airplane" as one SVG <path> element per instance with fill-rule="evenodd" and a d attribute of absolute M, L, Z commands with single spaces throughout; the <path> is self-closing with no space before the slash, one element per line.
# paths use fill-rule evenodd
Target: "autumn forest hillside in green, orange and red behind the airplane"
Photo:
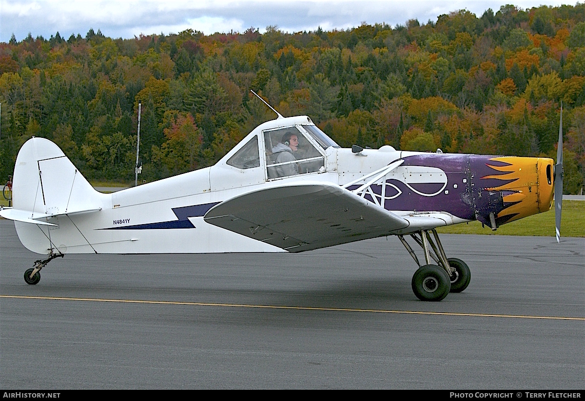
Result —
<path fill-rule="evenodd" d="M 31 28 L 31 30 L 33 30 Z M 32 136 L 88 179 L 133 182 L 214 164 L 259 123 L 308 115 L 343 147 L 556 158 L 585 186 L 585 4 L 285 33 L 112 39 L 90 29 L 0 43 L 0 182 Z"/>

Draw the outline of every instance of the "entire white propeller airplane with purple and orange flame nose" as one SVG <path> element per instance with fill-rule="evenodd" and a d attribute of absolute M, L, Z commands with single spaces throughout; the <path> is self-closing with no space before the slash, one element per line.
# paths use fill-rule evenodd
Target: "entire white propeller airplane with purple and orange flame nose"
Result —
<path fill-rule="evenodd" d="M 309 117 L 276 113 L 211 167 L 108 194 L 56 144 L 28 140 L 16 158 L 13 208 L 0 212 L 15 220 L 26 248 L 49 255 L 25 281 L 37 284 L 40 269 L 67 253 L 296 253 L 395 235 L 419 266 L 415 295 L 438 301 L 467 288 L 471 274 L 446 256 L 436 227 L 479 220 L 495 230 L 549 210 L 556 192 L 559 239 L 562 114 L 553 165 L 541 157 L 340 148 Z"/>

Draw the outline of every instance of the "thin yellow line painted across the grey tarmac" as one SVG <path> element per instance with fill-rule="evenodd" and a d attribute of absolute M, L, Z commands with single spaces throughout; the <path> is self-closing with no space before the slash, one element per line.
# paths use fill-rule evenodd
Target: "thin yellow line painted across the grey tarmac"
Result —
<path fill-rule="evenodd" d="M 154 304 L 154 305 L 250 307 L 250 308 L 259 308 L 259 309 L 322 310 L 322 311 L 326 311 L 326 312 L 400 313 L 400 314 L 427 314 L 427 315 L 441 315 L 441 316 L 510 317 L 510 318 L 516 318 L 516 319 L 548 319 L 548 320 L 580 320 L 580 321 L 585 321 L 585 317 L 530 316 L 530 315 L 522 315 L 522 314 L 419 312 L 417 310 L 352 309 L 352 308 L 343 308 L 343 307 L 280 306 L 280 305 L 246 305 L 246 304 L 239 304 L 239 303 L 181 302 L 181 301 L 136 300 L 136 299 L 66 298 L 66 297 L 61 297 L 61 296 L 0 295 L 0 298 L 73 300 L 73 301 L 118 302 L 118 303 L 147 303 L 147 304 Z"/>

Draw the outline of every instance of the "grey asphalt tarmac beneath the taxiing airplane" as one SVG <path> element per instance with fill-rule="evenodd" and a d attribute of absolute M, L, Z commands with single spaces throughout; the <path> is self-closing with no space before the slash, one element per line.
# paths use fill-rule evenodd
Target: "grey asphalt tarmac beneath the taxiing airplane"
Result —
<path fill-rule="evenodd" d="M 40 255 L 0 220 L 0 388 L 585 388 L 585 238 L 441 239 L 472 280 L 421 302 L 394 237 L 66 255 L 27 285 Z"/>

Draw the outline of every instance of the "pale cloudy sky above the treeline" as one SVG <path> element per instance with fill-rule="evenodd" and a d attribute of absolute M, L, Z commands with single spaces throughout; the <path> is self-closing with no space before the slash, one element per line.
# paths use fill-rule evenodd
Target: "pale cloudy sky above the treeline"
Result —
<path fill-rule="evenodd" d="M 405 25 L 409 19 L 426 23 L 452 11 L 467 9 L 481 17 L 491 8 L 494 13 L 505 4 L 519 8 L 539 5 L 575 5 L 576 1 L 557 0 L 0 0 L 0 42 L 25 39 L 30 32 L 49 39 L 59 32 L 85 34 L 90 28 L 112 38 L 132 38 L 140 33 L 178 33 L 185 29 L 205 34 L 244 32 L 249 27 L 265 32 L 277 26 L 285 32 L 347 29 L 387 23 Z"/>

